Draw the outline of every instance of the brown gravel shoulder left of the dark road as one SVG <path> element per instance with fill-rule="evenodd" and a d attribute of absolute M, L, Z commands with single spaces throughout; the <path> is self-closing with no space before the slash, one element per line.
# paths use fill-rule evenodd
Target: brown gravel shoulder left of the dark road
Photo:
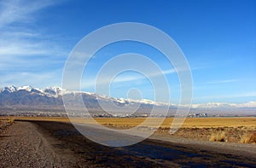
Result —
<path fill-rule="evenodd" d="M 63 167 L 75 162 L 56 154 L 49 141 L 29 122 L 10 125 L 0 135 L 0 142 L 0 167 Z"/>

